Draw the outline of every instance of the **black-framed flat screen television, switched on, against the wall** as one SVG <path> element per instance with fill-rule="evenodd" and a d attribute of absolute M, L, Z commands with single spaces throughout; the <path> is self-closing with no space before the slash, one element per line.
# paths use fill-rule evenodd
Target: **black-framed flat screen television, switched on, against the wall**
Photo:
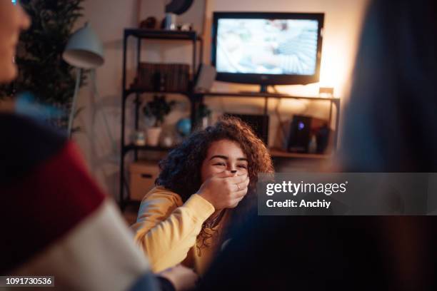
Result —
<path fill-rule="evenodd" d="M 323 20 L 324 14 L 214 12 L 216 80 L 261 88 L 318 82 Z"/>

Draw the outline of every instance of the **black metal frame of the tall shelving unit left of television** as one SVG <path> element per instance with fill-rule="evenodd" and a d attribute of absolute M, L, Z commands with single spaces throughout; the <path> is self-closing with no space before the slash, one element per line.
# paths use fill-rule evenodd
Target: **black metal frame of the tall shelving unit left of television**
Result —
<path fill-rule="evenodd" d="M 136 71 L 138 71 L 139 63 L 141 61 L 141 45 L 145 39 L 160 39 L 166 41 L 190 41 L 193 45 L 193 54 L 192 54 L 192 63 L 191 63 L 191 76 L 194 76 L 197 68 L 197 57 L 198 50 L 197 44 L 200 44 L 200 54 L 199 59 L 203 58 L 203 41 L 201 37 L 196 34 L 196 31 L 166 31 L 166 30 L 151 30 L 151 29 L 125 29 L 124 37 L 123 37 L 123 83 L 122 83 L 122 100 L 121 100 L 121 153 L 120 153 L 120 195 L 119 195 L 119 203 L 121 209 L 123 209 L 126 205 L 129 204 L 137 204 L 134 201 L 129 199 L 129 187 L 126 181 L 126 173 L 125 173 L 125 158 L 128 153 L 131 151 L 134 152 L 134 160 L 138 160 L 138 152 L 139 150 L 158 150 L 158 151 L 166 151 L 168 148 L 161 147 L 150 147 L 150 146 L 135 146 L 133 144 L 126 144 L 126 103 L 129 100 L 130 96 L 135 96 L 134 105 L 135 105 L 135 115 L 134 115 L 134 124 L 135 129 L 139 129 L 139 107 L 141 105 L 140 95 L 142 93 L 160 93 L 160 94 L 180 94 L 182 96 L 186 96 L 189 98 L 191 103 L 191 121 L 192 124 L 195 123 L 195 112 L 196 112 L 196 102 L 192 100 L 193 94 L 191 93 L 192 86 L 189 86 L 189 91 L 164 91 L 164 92 L 154 92 L 154 91 L 146 91 L 140 88 L 135 88 L 132 85 L 128 85 L 126 82 L 126 59 L 127 59 L 127 46 L 129 37 L 134 37 L 136 39 Z M 192 80 L 191 82 L 192 83 Z M 125 192 L 126 188 L 126 192 Z M 128 193 L 128 195 L 125 195 Z"/>

